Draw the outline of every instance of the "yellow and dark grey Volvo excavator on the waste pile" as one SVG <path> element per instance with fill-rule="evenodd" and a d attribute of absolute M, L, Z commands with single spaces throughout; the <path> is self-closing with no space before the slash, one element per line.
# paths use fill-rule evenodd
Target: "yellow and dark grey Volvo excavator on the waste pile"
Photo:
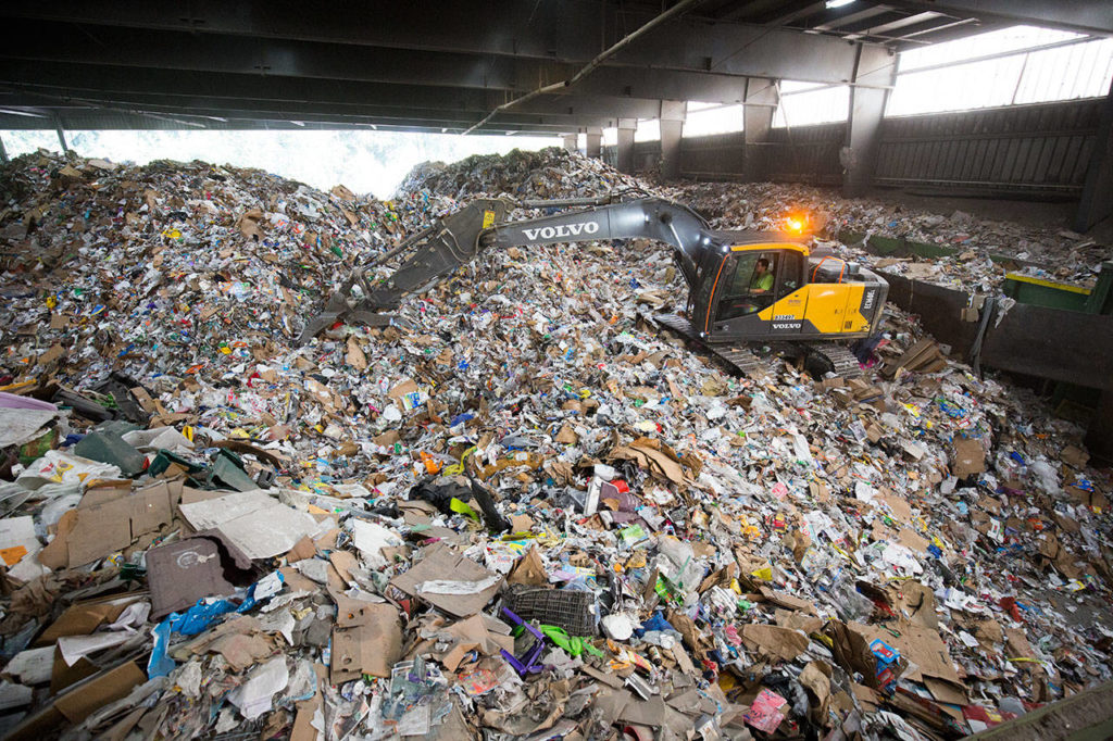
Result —
<path fill-rule="evenodd" d="M 508 221 L 513 208 L 550 215 Z M 299 340 L 338 322 L 387 326 L 397 320 L 387 312 L 404 296 L 429 290 L 485 249 L 629 238 L 670 245 L 688 284 L 682 313 L 650 317 L 659 327 L 697 343 L 739 374 L 760 372 L 776 352 L 802 359 L 817 378 L 860 375 L 846 340 L 878 330 L 888 295 L 884 278 L 833 255 L 810 254 L 799 236 L 716 230 L 687 206 L 631 191 L 476 199 L 357 266 L 323 313 L 306 323 Z"/>

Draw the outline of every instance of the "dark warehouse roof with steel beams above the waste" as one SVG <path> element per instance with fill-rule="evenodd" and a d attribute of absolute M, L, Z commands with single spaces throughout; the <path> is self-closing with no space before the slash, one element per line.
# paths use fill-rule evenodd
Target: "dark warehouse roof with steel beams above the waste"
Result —
<path fill-rule="evenodd" d="M 4 3 L 0 17 L 0 128 L 10 129 L 484 121 L 484 132 L 561 134 L 657 118 L 661 100 L 739 102 L 747 78 L 884 86 L 868 73 L 896 51 L 1016 23 L 1113 34 L 1101 0 L 467 0 L 435 13 L 343 0 L 188 10 L 75 0 Z M 487 120 L 544 86 L 554 89 Z"/>

